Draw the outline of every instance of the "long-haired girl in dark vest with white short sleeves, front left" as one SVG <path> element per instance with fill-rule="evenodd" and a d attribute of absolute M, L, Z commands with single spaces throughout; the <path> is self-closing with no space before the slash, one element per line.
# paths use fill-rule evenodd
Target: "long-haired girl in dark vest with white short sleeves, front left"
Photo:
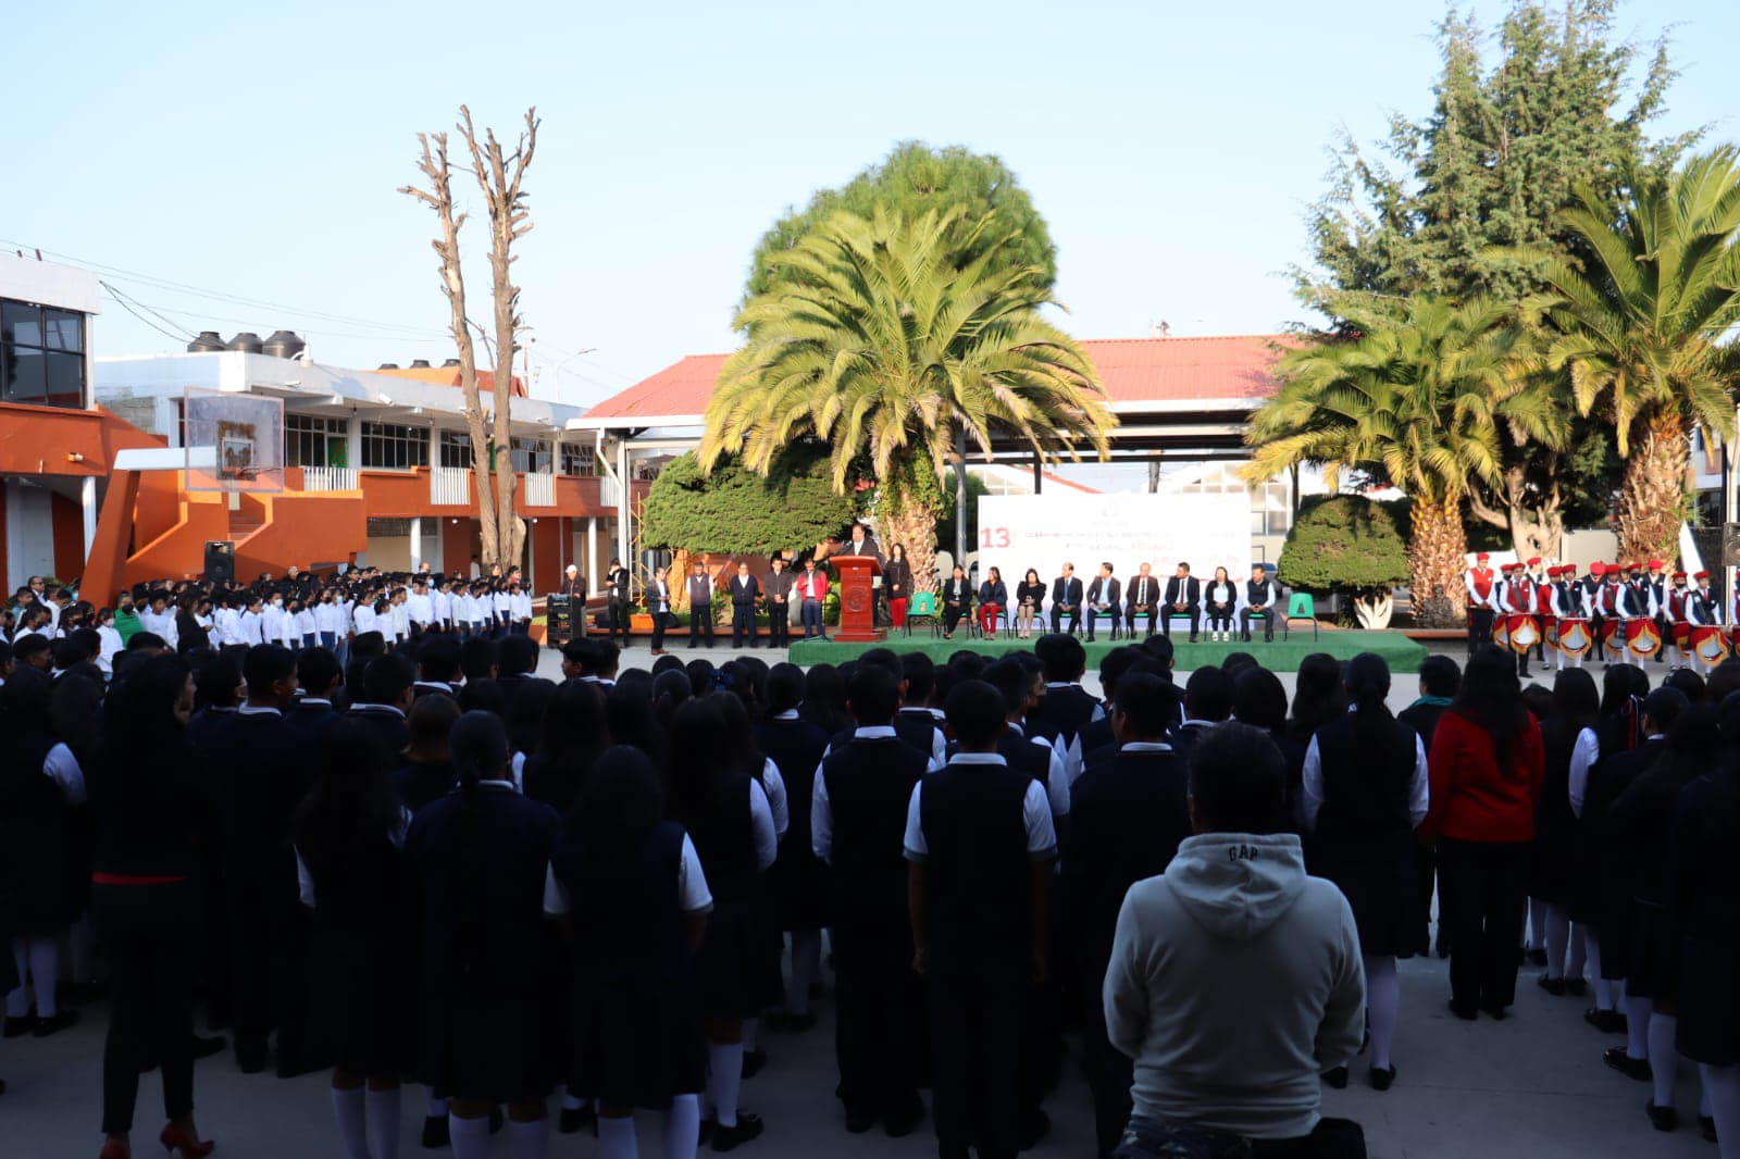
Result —
<path fill-rule="evenodd" d="M 557 837 L 545 914 L 572 938 L 567 1089 L 599 1100 L 599 1154 L 639 1154 L 635 1109 L 665 1112 L 665 1156 L 693 1157 L 706 1049 L 694 954 L 713 907 L 694 842 L 665 820 L 652 760 L 618 745 Z"/>

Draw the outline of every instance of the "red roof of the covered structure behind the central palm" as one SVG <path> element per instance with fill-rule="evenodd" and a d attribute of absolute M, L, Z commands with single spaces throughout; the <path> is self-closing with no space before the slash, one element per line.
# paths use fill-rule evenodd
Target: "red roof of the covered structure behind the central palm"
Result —
<path fill-rule="evenodd" d="M 1112 404 L 1267 399 L 1284 334 L 1089 338 L 1082 341 Z M 586 418 L 701 414 L 727 355 L 689 355 L 586 411 Z"/>

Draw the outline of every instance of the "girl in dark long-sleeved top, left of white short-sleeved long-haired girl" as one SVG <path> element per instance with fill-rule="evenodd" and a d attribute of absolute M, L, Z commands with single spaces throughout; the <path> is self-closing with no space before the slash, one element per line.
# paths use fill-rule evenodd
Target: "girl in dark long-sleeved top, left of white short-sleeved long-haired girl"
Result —
<path fill-rule="evenodd" d="M 405 837 L 418 929 L 418 1077 L 452 1096 L 454 1159 L 491 1154 L 489 1115 L 508 1103 L 513 1159 L 550 1143 L 553 992 L 545 875 L 560 823 L 508 781 L 508 733 L 468 712 L 449 738 L 459 790 L 430 802 Z"/>

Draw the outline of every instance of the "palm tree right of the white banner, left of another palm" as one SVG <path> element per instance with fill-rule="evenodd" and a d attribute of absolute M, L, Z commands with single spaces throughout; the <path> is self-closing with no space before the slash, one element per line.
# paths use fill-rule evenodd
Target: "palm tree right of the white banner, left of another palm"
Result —
<path fill-rule="evenodd" d="M 1274 479 L 1314 463 L 1331 489 L 1350 470 L 1406 491 L 1415 616 L 1460 623 L 1469 543 L 1462 501 L 1476 482 L 1500 480 L 1509 411 L 1550 430 L 1542 404 L 1512 372 L 1517 331 L 1496 303 L 1423 296 L 1401 310 L 1355 310 L 1348 320 L 1357 336 L 1281 358 L 1282 386 L 1246 432 L 1255 447 L 1246 473 Z"/>

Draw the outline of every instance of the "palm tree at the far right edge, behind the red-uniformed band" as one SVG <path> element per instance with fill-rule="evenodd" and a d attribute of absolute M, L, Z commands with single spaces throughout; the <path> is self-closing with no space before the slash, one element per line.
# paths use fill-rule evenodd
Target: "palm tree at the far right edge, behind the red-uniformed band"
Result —
<path fill-rule="evenodd" d="M 1615 526 L 1625 559 L 1672 559 L 1686 519 L 1691 426 L 1733 430 L 1740 324 L 1740 153 L 1674 174 L 1625 174 L 1616 211 L 1583 190 L 1563 214 L 1573 259 L 1536 254 L 1556 296 L 1545 362 L 1569 372 L 1578 411 L 1611 419 L 1625 470 Z"/>

